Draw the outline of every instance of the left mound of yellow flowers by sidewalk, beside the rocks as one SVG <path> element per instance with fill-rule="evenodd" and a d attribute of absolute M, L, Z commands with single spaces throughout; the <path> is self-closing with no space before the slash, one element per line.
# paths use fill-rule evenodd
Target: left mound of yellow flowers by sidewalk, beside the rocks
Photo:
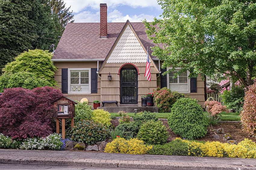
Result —
<path fill-rule="evenodd" d="M 147 146 L 137 138 L 126 140 L 124 138 L 116 138 L 108 143 L 105 148 L 107 153 L 127 153 L 127 154 L 146 154 L 152 146 Z"/>

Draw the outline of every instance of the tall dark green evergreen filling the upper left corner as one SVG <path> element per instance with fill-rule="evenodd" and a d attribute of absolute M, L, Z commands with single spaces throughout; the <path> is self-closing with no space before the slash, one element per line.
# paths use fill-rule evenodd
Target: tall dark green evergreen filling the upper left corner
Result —
<path fill-rule="evenodd" d="M 62 34 L 57 19 L 49 0 L 0 0 L 0 74 L 23 51 L 57 46 Z"/>

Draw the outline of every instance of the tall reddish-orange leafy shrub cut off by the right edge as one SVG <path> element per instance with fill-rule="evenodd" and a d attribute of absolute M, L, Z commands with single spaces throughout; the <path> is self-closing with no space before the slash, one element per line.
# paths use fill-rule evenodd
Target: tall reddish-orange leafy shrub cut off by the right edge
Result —
<path fill-rule="evenodd" d="M 256 82 L 245 94 L 243 111 L 240 113 L 242 128 L 252 136 L 256 136 Z"/>

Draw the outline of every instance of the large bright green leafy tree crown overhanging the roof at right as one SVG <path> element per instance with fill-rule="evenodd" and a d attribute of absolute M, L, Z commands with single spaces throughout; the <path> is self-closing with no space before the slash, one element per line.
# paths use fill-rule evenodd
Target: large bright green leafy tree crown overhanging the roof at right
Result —
<path fill-rule="evenodd" d="M 212 76 L 226 74 L 243 85 L 256 75 L 256 4 L 245 0 L 158 0 L 162 19 L 144 20 L 149 39 L 161 44 L 152 55 L 164 60 L 162 67 L 182 68 Z M 160 48 L 163 46 L 163 48 Z M 186 59 L 186 62 L 184 62 Z M 176 75 L 177 75 L 176 74 Z"/>

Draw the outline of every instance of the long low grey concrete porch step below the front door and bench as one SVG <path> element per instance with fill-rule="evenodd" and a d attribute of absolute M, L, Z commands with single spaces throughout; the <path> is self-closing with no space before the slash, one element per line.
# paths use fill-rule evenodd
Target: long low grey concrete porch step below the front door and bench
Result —
<path fill-rule="evenodd" d="M 105 111 L 108 111 L 109 113 L 118 113 L 119 111 L 125 111 L 126 113 L 134 113 L 134 109 L 138 109 L 137 113 L 143 112 L 143 111 L 150 111 L 158 113 L 158 107 L 139 107 L 139 106 L 121 106 L 121 107 L 98 107 L 99 109 L 103 109 Z"/>

